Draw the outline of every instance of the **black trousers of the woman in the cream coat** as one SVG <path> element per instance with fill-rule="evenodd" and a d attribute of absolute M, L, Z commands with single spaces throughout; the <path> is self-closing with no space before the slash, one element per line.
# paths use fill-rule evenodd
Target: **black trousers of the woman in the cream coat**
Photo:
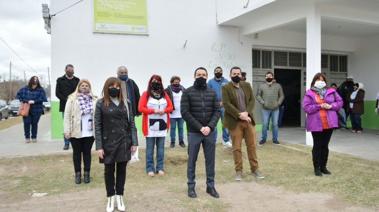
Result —
<path fill-rule="evenodd" d="M 91 170 L 91 149 L 95 138 L 82 137 L 82 138 L 70 138 L 72 146 L 72 160 L 74 161 L 75 172 L 81 172 L 81 156 L 83 155 L 84 171 L 89 172 Z"/>

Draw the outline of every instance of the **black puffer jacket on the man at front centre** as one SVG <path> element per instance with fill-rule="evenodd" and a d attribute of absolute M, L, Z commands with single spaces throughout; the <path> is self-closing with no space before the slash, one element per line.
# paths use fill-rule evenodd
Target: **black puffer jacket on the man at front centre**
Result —
<path fill-rule="evenodd" d="M 187 124 L 188 132 L 201 133 L 202 127 L 215 130 L 221 116 L 221 107 L 214 89 L 206 84 L 202 87 L 196 82 L 183 91 L 180 113 Z"/>

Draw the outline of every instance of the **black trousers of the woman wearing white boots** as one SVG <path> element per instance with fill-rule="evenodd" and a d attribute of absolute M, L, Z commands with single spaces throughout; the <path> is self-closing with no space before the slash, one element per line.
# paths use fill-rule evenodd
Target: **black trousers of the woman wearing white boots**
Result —
<path fill-rule="evenodd" d="M 104 163 L 104 181 L 106 182 L 107 197 L 112 197 L 115 194 L 124 195 L 125 179 L 127 178 L 127 163 L 128 161 Z"/>

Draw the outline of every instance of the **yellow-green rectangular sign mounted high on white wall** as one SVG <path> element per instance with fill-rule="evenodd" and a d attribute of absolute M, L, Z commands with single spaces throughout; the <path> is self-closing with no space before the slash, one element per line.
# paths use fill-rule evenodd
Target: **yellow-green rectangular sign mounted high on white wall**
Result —
<path fill-rule="evenodd" d="M 146 0 L 93 0 L 94 32 L 148 34 Z"/>

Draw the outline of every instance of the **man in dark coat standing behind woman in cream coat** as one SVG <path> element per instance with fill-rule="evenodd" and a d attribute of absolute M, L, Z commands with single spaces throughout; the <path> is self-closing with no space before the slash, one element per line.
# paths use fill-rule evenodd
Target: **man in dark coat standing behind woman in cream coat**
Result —
<path fill-rule="evenodd" d="M 78 86 L 80 79 L 74 76 L 74 66 L 71 64 L 66 65 L 66 74 L 59 77 L 56 80 L 55 96 L 59 99 L 59 112 L 62 112 L 62 117 L 65 116 L 65 107 L 67 102 L 67 97 L 73 93 Z M 70 139 L 65 139 L 64 150 L 68 150 L 70 147 Z"/>

